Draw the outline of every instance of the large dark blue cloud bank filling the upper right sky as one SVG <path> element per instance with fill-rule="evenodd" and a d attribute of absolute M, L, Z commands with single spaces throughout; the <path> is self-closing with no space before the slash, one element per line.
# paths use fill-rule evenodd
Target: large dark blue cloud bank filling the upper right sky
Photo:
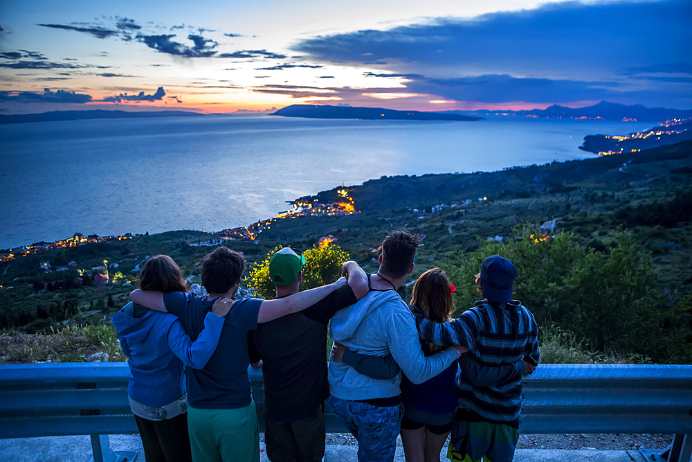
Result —
<path fill-rule="evenodd" d="M 578 73 L 591 71 L 594 64 L 617 69 L 649 65 L 652 57 L 658 62 L 689 59 L 692 28 L 682 18 L 691 15 L 688 0 L 588 6 L 569 2 L 471 20 L 444 18 L 316 37 L 294 48 L 317 60 L 381 64 L 400 73 L 430 67 L 440 74 L 526 75 L 561 68 Z"/>

